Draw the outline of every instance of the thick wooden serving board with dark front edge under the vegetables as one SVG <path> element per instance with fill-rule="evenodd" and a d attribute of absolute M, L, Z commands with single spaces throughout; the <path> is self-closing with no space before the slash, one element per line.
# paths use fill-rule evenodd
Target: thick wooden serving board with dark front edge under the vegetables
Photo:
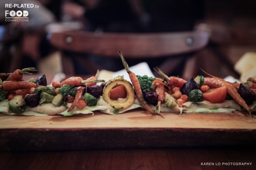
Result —
<path fill-rule="evenodd" d="M 9 116 L 0 113 L 1 151 L 255 145 L 256 119 L 246 113 Z"/>

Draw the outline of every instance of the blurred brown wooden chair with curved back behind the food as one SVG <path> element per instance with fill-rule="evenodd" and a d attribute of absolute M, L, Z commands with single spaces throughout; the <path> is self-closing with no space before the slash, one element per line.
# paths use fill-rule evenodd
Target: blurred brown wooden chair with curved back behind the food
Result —
<path fill-rule="evenodd" d="M 66 74 L 75 74 L 74 60 L 85 63 L 83 64 L 84 69 L 90 74 L 94 74 L 97 69 L 101 69 L 90 58 L 76 55 L 69 56 L 69 52 L 120 59 L 118 51 L 122 51 L 125 59 L 145 60 L 158 57 L 159 60 L 164 60 L 163 57 L 167 56 L 191 54 L 190 57 L 167 57 L 167 60 L 158 66 L 168 74 L 176 69 L 178 63 L 186 60 L 183 74 L 179 76 L 190 79 L 196 75 L 198 69 L 196 54 L 207 45 L 209 34 L 205 31 L 168 33 L 63 31 L 51 33 L 49 37 L 51 45 L 62 52 L 63 72 Z M 121 60 L 120 64 L 122 64 Z"/>

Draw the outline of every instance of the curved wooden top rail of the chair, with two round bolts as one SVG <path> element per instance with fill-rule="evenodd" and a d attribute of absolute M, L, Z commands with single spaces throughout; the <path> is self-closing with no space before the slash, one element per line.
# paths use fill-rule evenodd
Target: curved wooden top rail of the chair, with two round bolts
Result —
<path fill-rule="evenodd" d="M 112 58 L 119 58 L 118 51 L 122 51 L 125 58 L 150 59 L 198 51 L 207 45 L 208 39 L 207 32 L 196 30 L 165 33 L 62 31 L 51 33 L 49 41 L 61 51 Z"/>

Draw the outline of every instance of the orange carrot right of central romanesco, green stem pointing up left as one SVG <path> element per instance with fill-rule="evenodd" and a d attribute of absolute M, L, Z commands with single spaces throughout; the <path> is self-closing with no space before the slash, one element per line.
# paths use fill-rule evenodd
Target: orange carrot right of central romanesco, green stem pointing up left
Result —
<path fill-rule="evenodd" d="M 186 83 L 187 81 L 179 78 L 179 77 L 175 77 L 175 76 L 170 76 L 168 77 L 162 70 L 160 70 L 158 67 L 154 68 L 154 70 L 160 74 L 161 76 L 163 76 L 169 85 L 174 86 L 174 87 L 179 87 L 181 88 L 183 86 L 184 83 Z"/>

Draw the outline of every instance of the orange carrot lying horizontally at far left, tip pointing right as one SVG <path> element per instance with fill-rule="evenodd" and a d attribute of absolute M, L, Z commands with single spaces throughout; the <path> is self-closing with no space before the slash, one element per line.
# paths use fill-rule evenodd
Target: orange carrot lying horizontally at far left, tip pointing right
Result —
<path fill-rule="evenodd" d="M 3 91 L 13 91 L 17 89 L 23 89 L 23 88 L 31 88 L 31 87 L 40 87 L 42 85 L 39 85 L 37 83 L 31 83 L 31 82 L 25 82 L 25 81 L 5 81 L 0 85 L 0 88 Z"/>

